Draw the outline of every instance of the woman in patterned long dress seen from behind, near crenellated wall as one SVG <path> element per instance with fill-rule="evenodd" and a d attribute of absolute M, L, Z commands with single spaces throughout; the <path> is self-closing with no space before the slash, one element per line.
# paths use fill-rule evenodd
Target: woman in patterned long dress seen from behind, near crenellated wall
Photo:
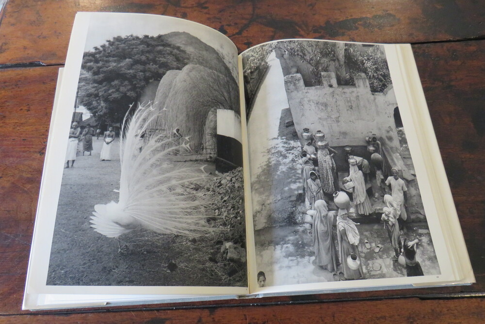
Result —
<path fill-rule="evenodd" d="M 318 171 L 320 173 L 320 179 L 322 181 L 323 192 L 327 194 L 333 194 L 339 188 L 337 177 L 337 167 L 333 156 L 337 153 L 336 150 L 328 146 L 328 142 L 318 142 Z"/>

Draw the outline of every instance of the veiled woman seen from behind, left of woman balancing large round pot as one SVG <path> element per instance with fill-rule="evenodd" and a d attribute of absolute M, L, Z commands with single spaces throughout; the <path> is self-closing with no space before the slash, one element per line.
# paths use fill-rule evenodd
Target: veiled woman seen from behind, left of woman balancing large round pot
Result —
<path fill-rule="evenodd" d="M 337 271 L 337 249 L 332 232 L 333 213 L 328 212 L 324 200 L 315 202 L 313 215 L 313 249 L 315 264 L 330 272 Z"/>

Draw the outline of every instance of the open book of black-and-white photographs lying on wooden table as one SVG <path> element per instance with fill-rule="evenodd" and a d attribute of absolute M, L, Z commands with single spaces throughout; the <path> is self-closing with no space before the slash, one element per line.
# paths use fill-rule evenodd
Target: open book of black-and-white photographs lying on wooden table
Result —
<path fill-rule="evenodd" d="M 24 309 L 471 282 L 409 45 L 77 14 Z"/>

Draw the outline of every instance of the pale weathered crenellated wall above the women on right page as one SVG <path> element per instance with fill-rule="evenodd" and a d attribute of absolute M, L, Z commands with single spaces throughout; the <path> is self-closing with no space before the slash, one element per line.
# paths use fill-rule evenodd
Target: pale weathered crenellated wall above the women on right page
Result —
<path fill-rule="evenodd" d="M 375 133 L 388 145 L 399 147 L 394 121 L 397 101 L 392 86 L 384 93 L 372 93 L 365 74 L 355 78 L 355 86 L 339 86 L 335 73 L 322 73 L 322 86 L 305 87 L 300 74 L 285 77 L 285 89 L 295 128 L 322 130 L 330 146 L 365 145 L 365 137 Z"/>

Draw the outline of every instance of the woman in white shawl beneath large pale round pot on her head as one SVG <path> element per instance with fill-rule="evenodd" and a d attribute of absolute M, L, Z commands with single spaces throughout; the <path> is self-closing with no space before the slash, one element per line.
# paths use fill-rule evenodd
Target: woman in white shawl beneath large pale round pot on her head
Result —
<path fill-rule="evenodd" d="M 362 262 L 359 262 L 357 269 L 351 269 L 348 264 L 348 258 L 351 254 L 356 255 L 360 260 L 358 244 L 360 235 L 354 223 L 348 218 L 346 209 L 339 209 L 337 215 L 337 240 L 339 242 L 339 259 L 342 264 L 343 276 L 347 280 L 363 279 L 364 271 Z"/>

